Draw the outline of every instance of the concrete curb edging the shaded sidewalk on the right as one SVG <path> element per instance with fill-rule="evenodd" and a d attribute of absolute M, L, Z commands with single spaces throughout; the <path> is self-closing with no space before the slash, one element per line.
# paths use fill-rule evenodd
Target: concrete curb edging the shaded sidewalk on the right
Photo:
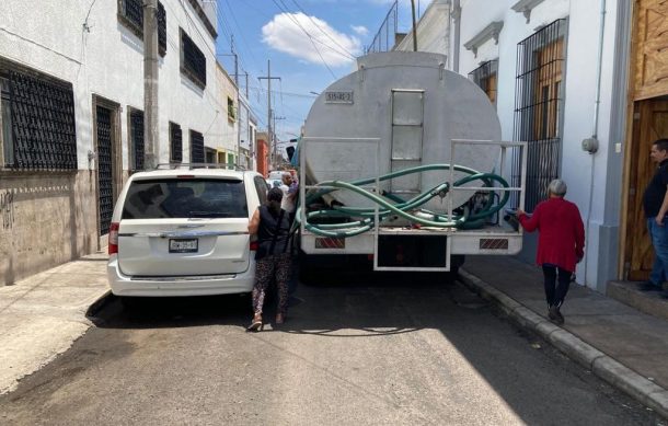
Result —
<path fill-rule="evenodd" d="M 521 327 L 540 335 L 599 378 L 668 418 L 668 390 L 623 366 L 566 330 L 554 325 L 463 268 L 459 270 L 459 278 L 480 297 L 497 304 Z"/>

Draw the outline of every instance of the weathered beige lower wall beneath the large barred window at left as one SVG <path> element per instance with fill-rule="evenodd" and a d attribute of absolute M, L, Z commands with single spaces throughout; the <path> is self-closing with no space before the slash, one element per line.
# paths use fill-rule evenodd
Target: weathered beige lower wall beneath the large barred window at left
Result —
<path fill-rule="evenodd" d="M 0 174 L 0 285 L 101 249 L 95 176 Z"/>

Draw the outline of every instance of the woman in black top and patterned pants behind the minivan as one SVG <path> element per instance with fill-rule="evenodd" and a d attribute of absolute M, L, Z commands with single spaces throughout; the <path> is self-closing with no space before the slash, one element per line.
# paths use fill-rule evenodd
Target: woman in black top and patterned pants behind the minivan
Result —
<path fill-rule="evenodd" d="M 276 277 L 278 309 L 276 324 L 283 324 L 288 311 L 288 278 L 290 277 L 290 223 L 288 212 L 280 208 L 283 191 L 272 188 L 266 205 L 260 206 L 249 223 L 249 233 L 257 234 L 255 252 L 255 285 L 253 286 L 253 320 L 247 330 L 261 331 L 264 298 Z"/>

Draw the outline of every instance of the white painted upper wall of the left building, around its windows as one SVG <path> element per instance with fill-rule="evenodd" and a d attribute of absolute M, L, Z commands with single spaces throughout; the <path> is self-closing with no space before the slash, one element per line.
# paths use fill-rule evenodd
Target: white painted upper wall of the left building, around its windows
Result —
<path fill-rule="evenodd" d="M 159 161 L 169 160 L 170 120 L 182 127 L 183 158 L 187 161 L 188 130 L 208 134 L 207 129 L 216 126 L 217 110 L 227 116 L 227 103 L 222 107 L 217 90 L 214 37 L 189 1 L 161 1 L 166 11 L 168 48 L 159 71 Z M 88 169 L 87 153 L 95 150 L 93 94 L 123 107 L 124 170 L 128 169 L 128 106 L 143 110 L 143 43 L 118 21 L 117 7 L 112 0 L 43 0 L 39 13 L 35 13 L 34 2 L 3 0 L 0 8 L 0 56 L 73 85 L 79 169 Z M 181 73 L 180 27 L 207 58 L 205 90 Z M 206 146 L 218 143 L 217 138 L 205 136 Z"/>

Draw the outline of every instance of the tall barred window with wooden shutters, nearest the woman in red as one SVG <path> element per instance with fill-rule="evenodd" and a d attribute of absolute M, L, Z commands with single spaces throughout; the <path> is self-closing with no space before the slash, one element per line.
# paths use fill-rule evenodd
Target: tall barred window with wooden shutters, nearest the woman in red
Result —
<path fill-rule="evenodd" d="M 567 21 L 556 20 L 517 45 L 514 134 L 515 140 L 528 142 L 528 211 L 546 197 L 548 185 L 558 177 L 566 30 Z M 514 157 L 512 177 L 519 185 L 519 153 Z"/>

